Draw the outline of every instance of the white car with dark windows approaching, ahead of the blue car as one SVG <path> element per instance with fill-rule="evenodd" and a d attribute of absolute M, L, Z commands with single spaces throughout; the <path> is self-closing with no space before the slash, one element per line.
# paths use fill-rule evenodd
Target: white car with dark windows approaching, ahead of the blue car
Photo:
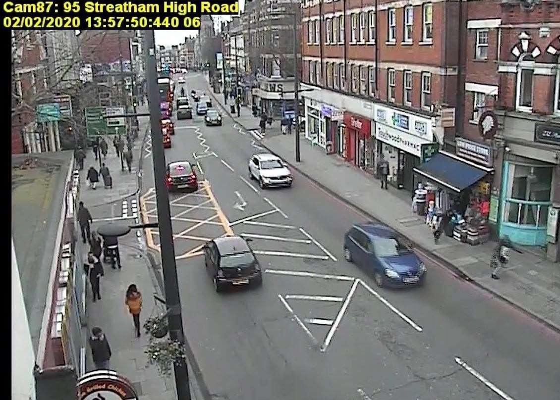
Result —
<path fill-rule="evenodd" d="M 282 159 L 274 154 L 254 154 L 249 160 L 249 178 L 259 181 L 262 189 L 271 186 L 292 186 L 293 176 Z"/>

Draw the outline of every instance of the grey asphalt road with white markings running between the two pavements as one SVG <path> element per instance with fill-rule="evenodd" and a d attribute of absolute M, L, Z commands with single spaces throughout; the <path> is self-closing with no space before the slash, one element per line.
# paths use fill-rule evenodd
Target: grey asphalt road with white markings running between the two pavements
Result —
<path fill-rule="evenodd" d="M 202 74 L 189 73 L 192 89 L 208 93 Z M 199 179 L 267 270 L 262 288 L 217 294 L 202 257 L 177 261 L 186 337 L 214 398 L 558 398 L 556 333 L 431 260 L 422 288 L 377 288 L 342 254 L 344 233 L 366 218 L 296 171 L 291 189 L 261 190 L 248 160 L 263 150 L 222 117 L 222 127 L 176 121 L 166 150 L 166 162 L 198 161 Z M 144 168 L 149 191 L 151 162 Z M 223 233 L 207 200 L 172 195 L 174 233 L 189 236 L 175 239 L 176 255 Z M 185 234 L 195 224 L 185 218 L 210 223 Z"/>

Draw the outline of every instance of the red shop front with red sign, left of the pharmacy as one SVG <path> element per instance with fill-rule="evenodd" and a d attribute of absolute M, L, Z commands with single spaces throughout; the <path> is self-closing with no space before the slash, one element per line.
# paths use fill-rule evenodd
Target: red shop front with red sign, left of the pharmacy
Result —
<path fill-rule="evenodd" d="M 371 148 L 371 121 L 344 112 L 344 158 L 355 166 L 367 168 Z"/>

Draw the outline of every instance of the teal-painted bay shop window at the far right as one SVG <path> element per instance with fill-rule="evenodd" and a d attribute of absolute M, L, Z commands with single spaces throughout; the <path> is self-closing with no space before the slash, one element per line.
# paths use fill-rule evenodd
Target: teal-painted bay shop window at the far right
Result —
<path fill-rule="evenodd" d="M 503 162 L 500 236 L 526 246 L 545 246 L 553 166 L 518 158 Z"/>

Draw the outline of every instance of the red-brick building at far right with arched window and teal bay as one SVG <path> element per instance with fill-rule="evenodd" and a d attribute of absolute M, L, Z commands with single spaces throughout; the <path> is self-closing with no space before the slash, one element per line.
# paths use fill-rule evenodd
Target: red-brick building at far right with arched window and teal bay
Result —
<path fill-rule="evenodd" d="M 481 0 L 467 8 L 462 134 L 493 158 L 492 222 L 500 235 L 548 247 L 558 260 L 547 221 L 560 207 L 560 2 Z M 485 111 L 492 114 L 480 133 Z"/>

